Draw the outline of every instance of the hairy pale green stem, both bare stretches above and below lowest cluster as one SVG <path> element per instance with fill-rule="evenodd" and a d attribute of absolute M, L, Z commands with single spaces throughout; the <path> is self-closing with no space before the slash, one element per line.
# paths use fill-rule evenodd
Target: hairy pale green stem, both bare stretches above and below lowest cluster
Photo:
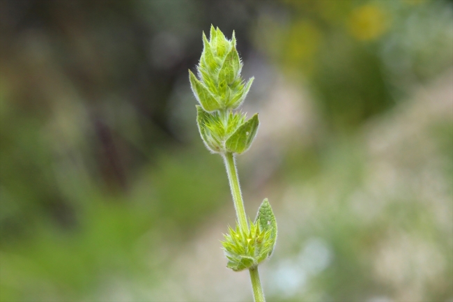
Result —
<path fill-rule="evenodd" d="M 240 192 L 238 171 L 236 169 L 236 161 L 233 153 L 227 152 L 224 154 L 225 166 L 227 167 L 228 180 L 231 188 L 231 195 L 233 195 L 234 208 L 236 209 L 236 216 L 238 217 L 239 227 L 244 230 L 249 230 L 247 223 L 247 216 L 245 216 L 243 195 Z M 263 287 L 259 280 L 258 266 L 249 269 L 250 280 L 252 280 L 252 289 L 255 302 L 265 302 Z"/>

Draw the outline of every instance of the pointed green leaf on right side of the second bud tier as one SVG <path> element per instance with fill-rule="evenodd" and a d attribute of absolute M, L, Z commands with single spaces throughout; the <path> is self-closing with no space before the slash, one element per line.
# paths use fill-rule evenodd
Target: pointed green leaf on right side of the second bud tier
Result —
<path fill-rule="evenodd" d="M 247 151 L 255 138 L 258 126 L 258 114 L 254 114 L 252 119 L 239 126 L 233 135 L 227 139 L 227 142 L 225 142 L 227 150 L 238 154 Z"/>

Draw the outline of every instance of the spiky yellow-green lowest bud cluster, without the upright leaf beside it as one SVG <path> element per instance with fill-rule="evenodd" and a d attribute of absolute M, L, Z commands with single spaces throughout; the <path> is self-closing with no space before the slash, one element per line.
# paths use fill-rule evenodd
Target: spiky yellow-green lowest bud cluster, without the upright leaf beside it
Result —
<path fill-rule="evenodd" d="M 233 271 L 254 268 L 272 252 L 272 230 L 263 229 L 259 221 L 249 223 L 249 230 L 236 225 L 236 229 L 229 227 L 229 234 L 224 234 L 222 246 L 228 259 L 227 267 Z"/>

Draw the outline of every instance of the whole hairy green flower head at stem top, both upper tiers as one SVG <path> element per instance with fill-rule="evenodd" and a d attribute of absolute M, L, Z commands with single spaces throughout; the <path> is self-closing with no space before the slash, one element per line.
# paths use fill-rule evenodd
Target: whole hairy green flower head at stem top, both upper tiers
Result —
<path fill-rule="evenodd" d="M 248 121 L 238 112 L 254 78 L 245 83 L 240 77 L 243 63 L 231 40 L 220 29 L 210 28 L 210 40 L 203 33 L 204 49 L 197 66 L 198 76 L 189 70 L 190 86 L 197 106 L 197 123 L 204 144 L 213 153 L 243 153 L 249 149 L 258 130 L 255 114 Z"/>

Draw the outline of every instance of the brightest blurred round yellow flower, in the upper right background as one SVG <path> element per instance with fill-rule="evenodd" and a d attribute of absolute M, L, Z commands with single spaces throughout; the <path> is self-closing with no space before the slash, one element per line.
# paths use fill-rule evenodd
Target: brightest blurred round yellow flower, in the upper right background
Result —
<path fill-rule="evenodd" d="M 358 40 L 374 40 L 387 30 L 388 16 L 379 6 L 367 4 L 352 11 L 348 27 Z"/>

